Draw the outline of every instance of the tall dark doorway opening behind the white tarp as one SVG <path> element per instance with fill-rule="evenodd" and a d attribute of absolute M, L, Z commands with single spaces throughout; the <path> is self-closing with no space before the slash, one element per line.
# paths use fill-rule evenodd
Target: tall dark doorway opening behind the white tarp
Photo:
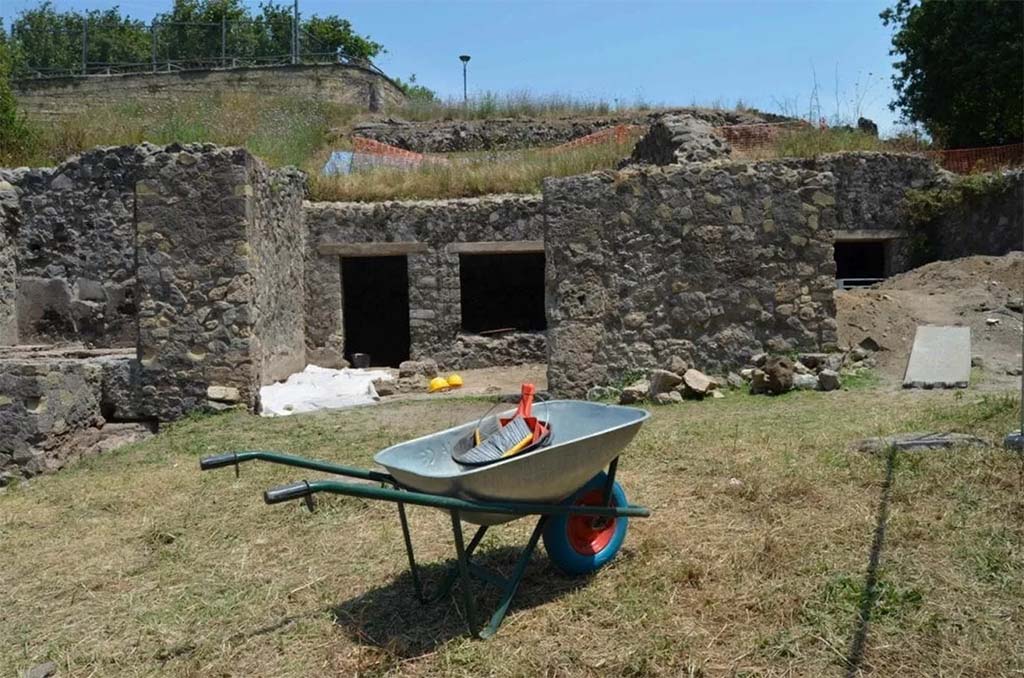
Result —
<path fill-rule="evenodd" d="M 409 264 L 403 256 L 343 257 L 345 358 L 369 353 L 375 367 L 409 359 Z"/>

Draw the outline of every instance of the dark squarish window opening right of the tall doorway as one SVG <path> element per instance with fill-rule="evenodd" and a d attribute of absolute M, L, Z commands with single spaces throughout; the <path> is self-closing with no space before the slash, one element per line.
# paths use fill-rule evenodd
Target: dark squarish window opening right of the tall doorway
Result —
<path fill-rule="evenodd" d="M 461 254 L 459 284 L 466 332 L 539 332 L 548 327 L 543 252 Z"/>

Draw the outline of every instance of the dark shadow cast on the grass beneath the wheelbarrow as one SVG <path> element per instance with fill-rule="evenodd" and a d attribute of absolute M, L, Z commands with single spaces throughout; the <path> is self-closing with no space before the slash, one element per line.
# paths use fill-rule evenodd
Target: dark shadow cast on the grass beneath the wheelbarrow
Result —
<path fill-rule="evenodd" d="M 473 562 L 508 577 L 520 553 L 519 548 L 502 546 L 475 553 Z M 420 565 L 427 596 L 434 594 L 438 583 L 455 566 L 455 558 Z M 546 557 L 535 554 L 512 599 L 509 615 L 559 598 L 586 586 L 589 581 L 589 577 L 565 577 Z M 412 575 L 407 570 L 390 584 L 334 607 L 335 624 L 356 642 L 380 647 L 396 658 L 426 654 L 453 638 L 468 634 L 459 586 L 456 584 L 449 595 L 439 600 L 421 603 L 416 597 Z M 501 592 L 496 586 L 475 578 L 472 589 L 479 627 L 498 607 Z M 498 633 L 501 634 L 509 623 L 507 617 Z"/>

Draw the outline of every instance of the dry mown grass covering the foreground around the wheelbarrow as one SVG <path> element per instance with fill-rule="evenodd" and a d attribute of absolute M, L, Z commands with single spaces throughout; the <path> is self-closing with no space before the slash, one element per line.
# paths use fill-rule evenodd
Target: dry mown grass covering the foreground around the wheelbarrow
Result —
<path fill-rule="evenodd" d="M 234 480 L 197 469 L 201 455 L 250 446 L 366 466 L 379 448 L 485 407 L 193 419 L 7 490 L 0 666 L 51 660 L 63 676 L 842 675 L 887 473 L 886 459 L 849 452 L 850 441 L 923 428 L 996 440 L 1018 401 L 861 389 L 656 409 L 621 469 L 653 516 L 634 520 L 623 553 L 589 581 L 560 576 L 540 551 L 487 642 L 462 636 L 455 604 L 414 601 L 393 507 L 266 507 L 261 489 L 304 473 L 250 465 Z M 1024 671 L 1022 474 L 994 447 L 896 459 L 858 671 Z M 452 556 L 446 518 L 422 509 L 411 519 L 436 577 Z M 484 558 L 507 564 L 528 529 L 493 531 Z"/>

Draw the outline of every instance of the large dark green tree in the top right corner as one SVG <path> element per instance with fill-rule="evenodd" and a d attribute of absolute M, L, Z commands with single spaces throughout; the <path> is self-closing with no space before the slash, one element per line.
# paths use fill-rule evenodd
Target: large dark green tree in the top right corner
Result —
<path fill-rule="evenodd" d="M 1024 140 L 1024 3 L 898 0 L 881 18 L 900 57 L 893 111 L 946 147 Z"/>

